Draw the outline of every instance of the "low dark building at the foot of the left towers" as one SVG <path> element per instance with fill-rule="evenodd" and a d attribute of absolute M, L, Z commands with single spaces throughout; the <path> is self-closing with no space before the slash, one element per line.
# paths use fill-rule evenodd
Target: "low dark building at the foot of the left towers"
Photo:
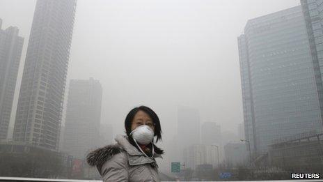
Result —
<path fill-rule="evenodd" d="M 0 176 L 67 179 L 72 168 L 65 153 L 24 142 L 0 142 L 0 158 Z"/>

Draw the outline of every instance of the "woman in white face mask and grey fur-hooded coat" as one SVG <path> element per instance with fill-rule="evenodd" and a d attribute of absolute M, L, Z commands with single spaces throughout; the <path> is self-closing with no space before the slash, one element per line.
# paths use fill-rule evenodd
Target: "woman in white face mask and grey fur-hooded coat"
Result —
<path fill-rule="evenodd" d="M 157 114 L 149 107 L 132 109 L 125 119 L 125 136 L 117 144 L 92 151 L 87 162 L 96 166 L 103 181 L 160 181 L 155 158 L 164 153 L 154 144 L 161 139 Z"/>

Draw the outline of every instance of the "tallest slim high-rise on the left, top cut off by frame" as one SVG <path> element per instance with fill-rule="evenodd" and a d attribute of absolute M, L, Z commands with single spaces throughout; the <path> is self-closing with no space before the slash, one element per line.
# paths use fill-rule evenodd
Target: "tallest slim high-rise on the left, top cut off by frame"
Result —
<path fill-rule="evenodd" d="M 38 0 L 13 139 L 58 149 L 76 0 Z"/>

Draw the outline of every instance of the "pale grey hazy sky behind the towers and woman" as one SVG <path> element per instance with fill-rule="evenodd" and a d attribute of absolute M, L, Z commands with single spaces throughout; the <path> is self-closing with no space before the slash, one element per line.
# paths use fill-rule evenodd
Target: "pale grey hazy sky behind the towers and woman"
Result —
<path fill-rule="evenodd" d="M 25 38 L 11 121 L 35 5 L 0 0 L 3 28 L 18 26 Z M 247 20 L 297 5 L 299 0 L 78 0 L 68 81 L 100 80 L 102 123 L 111 123 L 115 134 L 138 105 L 159 114 L 164 144 L 177 130 L 178 105 L 199 109 L 201 123 L 214 121 L 237 133 L 243 122 L 237 36 Z"/>

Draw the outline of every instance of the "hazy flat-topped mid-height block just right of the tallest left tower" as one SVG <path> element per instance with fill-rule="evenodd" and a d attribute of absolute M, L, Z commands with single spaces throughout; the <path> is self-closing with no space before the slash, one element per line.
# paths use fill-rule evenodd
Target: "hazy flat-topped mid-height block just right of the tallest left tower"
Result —
<path fill-rule="evenodd" d="M 101 101 L 99 81 L 93 78 L 70 81 L 63 151 L 83 159 L 90 149 L 99 145 Z"/>

